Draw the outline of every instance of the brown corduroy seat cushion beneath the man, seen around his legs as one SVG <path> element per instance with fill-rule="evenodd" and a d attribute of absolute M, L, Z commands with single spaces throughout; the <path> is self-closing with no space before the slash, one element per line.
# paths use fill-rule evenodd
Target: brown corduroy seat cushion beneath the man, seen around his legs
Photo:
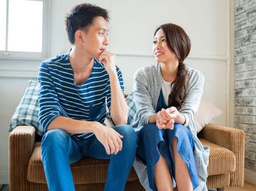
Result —
<path fill-rule="evenodd" d="M 105 182 L 107 179 L 107 168 L 110 160 L 85 158 L 78 163 L 70 165 L 75 185 Z M 41 161 L 41 142 L 36 142 L 33 153 L 28 163 L 28 181 L 46 183 L 43 163 Z M 128 181 L 137 180 L 137 174 L 132 168 Z"/>

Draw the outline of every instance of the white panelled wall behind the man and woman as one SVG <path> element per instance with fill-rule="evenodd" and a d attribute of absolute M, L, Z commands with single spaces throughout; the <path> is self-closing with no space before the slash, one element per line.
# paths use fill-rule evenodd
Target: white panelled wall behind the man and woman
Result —
<path fill-rule="evenodd" d="M 63 28 L 65 13 L 84 1 L 50 1 L 50 55 L 70 48 Z M 223 110 L 215 122 L 228 125 L 230 116 L 230 44 L 228 0 L 107 0 L 87 1 L 110 10 L 110 50 L 124 76 L 125 92 L 132 92 L 133 74 L 154 62 L 154 29 L 162 23 L 182 26 L 191 38 L 189 66 L 206 77 L 203 96 Z M 11 114 L 41 60 L 0 60 L 0 184 L 8 182 L 8 132 Z M 233 95 L 232 95 L 233 96 Z"/>

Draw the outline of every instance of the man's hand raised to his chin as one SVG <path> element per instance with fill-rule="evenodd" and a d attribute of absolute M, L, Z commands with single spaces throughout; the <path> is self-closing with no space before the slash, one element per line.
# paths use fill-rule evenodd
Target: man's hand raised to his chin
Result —
<path fill-rule="evenodd" d="M 113 72 L 117 72 L 116 70 L 116 56 L 113 53 L 110 53 L 108 51 L 103 51 L 102 54 L 99 57 L 99 62 L 101 62 L 105 70 L 107 70 L 107 73 L 109 75 L 112 75 Z"/>

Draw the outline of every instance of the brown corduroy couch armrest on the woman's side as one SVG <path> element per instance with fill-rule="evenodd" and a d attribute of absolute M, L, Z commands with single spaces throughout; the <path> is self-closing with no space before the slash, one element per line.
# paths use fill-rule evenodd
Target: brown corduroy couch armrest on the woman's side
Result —
<path fill-rule="evenodd" d="M 230 187 L 242 187 L 245 177 L 245 132 L 227 126 L 208 124 L 198 137 L 228 148 L 235 154 L 235 172 L 230 175 Z"/>

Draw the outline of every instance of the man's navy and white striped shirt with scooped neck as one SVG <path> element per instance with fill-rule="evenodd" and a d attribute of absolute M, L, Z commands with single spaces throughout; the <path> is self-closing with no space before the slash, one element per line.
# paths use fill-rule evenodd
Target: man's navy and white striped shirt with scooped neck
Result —
<path fill-rule="evenodd" d="M 124 92 L 122 72 L 117 69 L 119 84 Z M 76 85 L 69 55 L 57 55 L 41 63 L 38 72 L 40 84 L 38 92 L 39 122 L 46 131 L 57 116 L 104 124 L 106 104 L 110 111 L 110 77 L 104 66 L 94 60 L 90 77 L 81 85 Z M 71 134 L 75 138 L 87 138 L 93 133 Z"/>

